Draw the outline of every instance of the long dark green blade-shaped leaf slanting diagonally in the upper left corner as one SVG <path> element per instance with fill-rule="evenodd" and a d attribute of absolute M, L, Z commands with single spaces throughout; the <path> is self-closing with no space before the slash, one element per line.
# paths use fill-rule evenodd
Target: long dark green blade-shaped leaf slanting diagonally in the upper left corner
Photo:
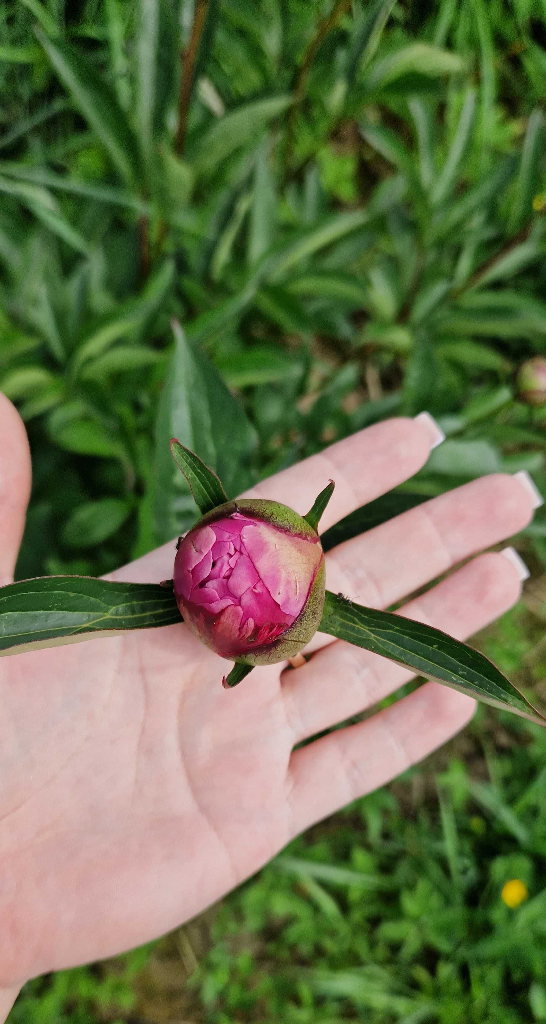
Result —
<path fill-rule="evenodd" d="M 87 62 L 80 49 L 50 39 L 36 30 L 58 77 L 90 128 L 100 139 L 113 164 L 130 184 L 140 176 L 136 140 L 116 95 Z"/>

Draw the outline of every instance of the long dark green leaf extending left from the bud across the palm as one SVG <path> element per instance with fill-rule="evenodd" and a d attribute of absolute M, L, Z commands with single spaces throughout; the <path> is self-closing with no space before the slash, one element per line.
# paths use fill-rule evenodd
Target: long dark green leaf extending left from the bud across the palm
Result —
<path fill-rule="evenodd" d="M 180 622 L 172 591 L 156 584 L 44 577 L 0 589 L 0 654 Z"/>

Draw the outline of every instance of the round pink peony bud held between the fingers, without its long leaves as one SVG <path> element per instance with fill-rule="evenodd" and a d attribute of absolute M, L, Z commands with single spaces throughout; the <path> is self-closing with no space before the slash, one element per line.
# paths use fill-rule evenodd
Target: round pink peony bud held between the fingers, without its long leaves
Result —
<path fill-rule="evenodd" d="M 179 543 L 174 595 L 184 621 L 222 657 L 247 665 L 292 657 L 323 612 L 319 536 L 277 502 L 220 505 Z"/>

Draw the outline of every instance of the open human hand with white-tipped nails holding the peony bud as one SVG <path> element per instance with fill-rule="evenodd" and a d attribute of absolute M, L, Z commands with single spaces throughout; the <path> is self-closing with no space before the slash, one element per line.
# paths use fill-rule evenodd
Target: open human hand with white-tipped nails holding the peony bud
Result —
<path fill-rule="evenodd" d="M 25 430 L 0 395 L 0 578 L 9 582 L 30 482 Z M 299 512 L 329 478 L 326 529 L 426 462 L 426 419 L 370 427 L 260 483 Z M 524 479 L 495 474 L 435 498 L 326 556 L 327 586 L 385 607 L 521 529 Z M 114 573 L 158 582 L 174 544 Z M 517 568 L 478 555 L 404 614 L 463 639 L 517 599 Z M 365 722 L 410 673 L 326 636 L 309 660 L 226 664 L 179 625 L 0 662 L 0 988 L 113 955 L 198 913 L 294 836 L 449 739 L 473 701 L 435 683 Z M 1 1002 L 0 1002 L 1 1009 Z"/>

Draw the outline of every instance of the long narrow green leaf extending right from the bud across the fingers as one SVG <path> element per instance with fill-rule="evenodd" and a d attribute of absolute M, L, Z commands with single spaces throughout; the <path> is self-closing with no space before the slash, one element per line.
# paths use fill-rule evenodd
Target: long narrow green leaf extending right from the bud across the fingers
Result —
<path fill-rule="evenodd" d="M 390 611 L 364 608 L 327 591 L 319 629 L 404 665 L 419 676 L 546 725 L 544 716 L 489 658 L 431 626 Z"/>

